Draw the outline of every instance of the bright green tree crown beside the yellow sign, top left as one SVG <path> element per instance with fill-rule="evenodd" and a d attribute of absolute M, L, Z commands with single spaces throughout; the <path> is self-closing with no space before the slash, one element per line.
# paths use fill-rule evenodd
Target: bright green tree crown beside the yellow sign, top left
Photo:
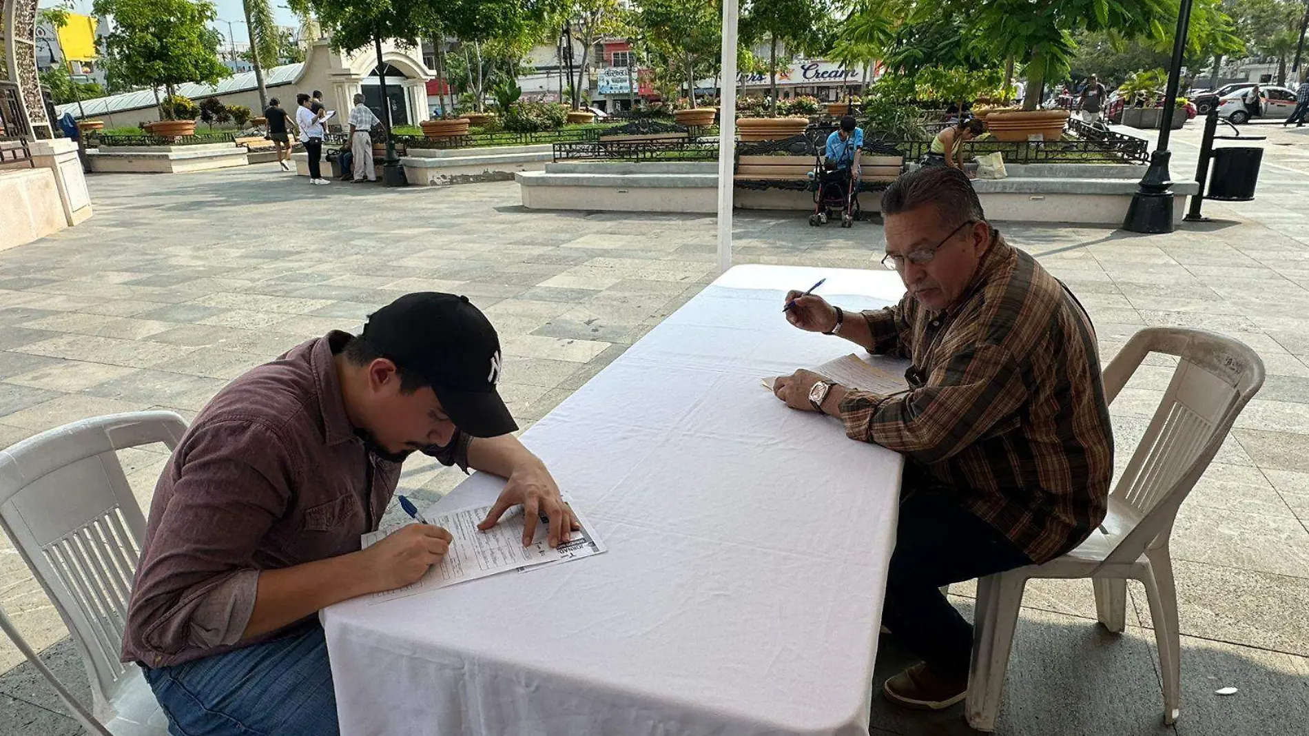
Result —
<path fill-rule="evenodd" d="M 178 84 L 216 84 L 230 73 L 219 62 L 223 37 L 208 26 L 217 10 L 207 0 L 96 0 L 93 8 L 114 17 L 105 50 L 119 83 L 164 85 L 171 94 Z"/>

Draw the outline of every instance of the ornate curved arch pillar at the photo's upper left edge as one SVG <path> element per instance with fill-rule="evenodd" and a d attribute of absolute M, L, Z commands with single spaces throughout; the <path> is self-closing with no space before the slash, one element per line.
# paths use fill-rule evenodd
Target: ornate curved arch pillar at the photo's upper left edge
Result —
<path fill-rule="evenodd" d="M 0 128 L 54 138 L 37 79 L 37 0 L 0 0 Z"/>

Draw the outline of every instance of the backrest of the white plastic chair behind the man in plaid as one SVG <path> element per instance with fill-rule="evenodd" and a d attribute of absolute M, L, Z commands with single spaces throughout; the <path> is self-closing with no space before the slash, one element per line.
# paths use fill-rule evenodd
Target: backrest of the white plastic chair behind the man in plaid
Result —
<path fill-rule="evenodd" d="M 1127 342 L 1105 369 L 1113 402 L 1151 352 L 1177 356 L 1145 436 L 1111 496 L 1140 517 L 1105 562 L 1130 562 L 1168 542 L 1186 494 L 1217 453 L 1246 402 L 1263 385 L 1263 361 L 1245 343 L 1182 327 L 1147 327 Z"/>

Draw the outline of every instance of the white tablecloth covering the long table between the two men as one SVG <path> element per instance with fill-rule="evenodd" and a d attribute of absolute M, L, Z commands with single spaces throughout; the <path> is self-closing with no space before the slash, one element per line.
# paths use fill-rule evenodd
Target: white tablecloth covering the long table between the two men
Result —
<path fill-rule="evenodd" d="M 342 733 L 867 733 L 901 456 L 759 385 L 857 350 L 784 321 L 821 276 L 903 292 L 737 266 L 524 435 L 607 553 L 323 610 Z"/>

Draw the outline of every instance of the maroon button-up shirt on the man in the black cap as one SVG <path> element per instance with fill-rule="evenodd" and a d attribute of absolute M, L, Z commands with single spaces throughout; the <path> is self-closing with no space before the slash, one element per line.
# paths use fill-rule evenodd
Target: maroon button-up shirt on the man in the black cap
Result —
<path fill-rule="evenodd" d="M 182 664 L 241 639 L 260 570 L 359 550 L 401 466 L 368 452 L 346 415 L 332 356 L 346 333 L 296 347 L 219 392 L 154 488 L 123 634 L 123 661 Z M 437 458 L 467 469 L 466 435 Z"/>

